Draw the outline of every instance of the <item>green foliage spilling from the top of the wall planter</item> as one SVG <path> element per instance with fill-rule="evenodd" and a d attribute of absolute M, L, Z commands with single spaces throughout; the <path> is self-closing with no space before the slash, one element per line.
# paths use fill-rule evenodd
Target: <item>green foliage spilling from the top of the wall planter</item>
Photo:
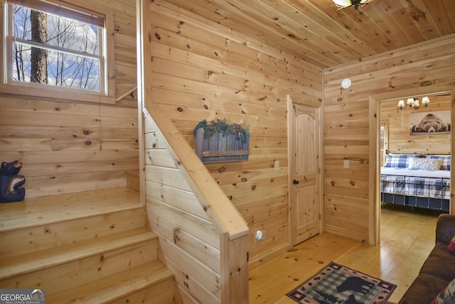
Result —
<path fill-rule="evenodd" d="M 215 134 L 235 134 L 236 139 L 240 139 L 242 143 L 246 143 L 250 134 L 248 133 L 247 129 L 245 129 L 240 124 L 231 124 L 228 123 L 225 119 L 217 119 L 212 123 L 208 124 L 207 121 L 204 119 L 203 121 L 199 121 L 196 127 L 193 130 L 193 135 L 196 136 L 198 129 L 204 129 L 204 138 L 209 139 Z"/>

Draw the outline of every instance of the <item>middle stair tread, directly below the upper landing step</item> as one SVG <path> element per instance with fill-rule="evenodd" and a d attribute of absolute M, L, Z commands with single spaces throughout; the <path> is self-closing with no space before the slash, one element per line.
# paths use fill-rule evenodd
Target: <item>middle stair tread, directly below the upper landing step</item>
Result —
<path fill-rule="evenodd" d="M 139 227 L 71 244 L 63 244 L 51 250 L 43 249 L 27 254 L 3 257 L 0 259 L 0 280 L 154 239 L 157 239 L 154 232 L 151 232 L 147 227 Z"/>

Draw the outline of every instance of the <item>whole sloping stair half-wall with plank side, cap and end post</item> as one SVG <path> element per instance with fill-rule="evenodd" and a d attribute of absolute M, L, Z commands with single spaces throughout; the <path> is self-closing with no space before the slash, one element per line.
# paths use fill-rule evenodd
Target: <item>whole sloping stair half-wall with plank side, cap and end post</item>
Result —
<path fill-rule="evenodd" d="M 245 220 L 173 122 L 146 109 L 144 150 L 147 221 L 182 302 L 248 303 Z"/>

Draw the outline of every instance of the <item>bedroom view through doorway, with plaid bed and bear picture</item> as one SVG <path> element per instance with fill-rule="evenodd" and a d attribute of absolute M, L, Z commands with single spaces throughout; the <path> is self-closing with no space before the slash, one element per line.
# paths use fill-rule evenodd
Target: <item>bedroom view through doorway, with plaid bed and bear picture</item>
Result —
<path fill-rule="evenodd" d="M 449 212 L 451 93 L 415 98 L 423 96 L 430 99 L 427 107 L 421 104 L 400 109 L 400 100 L 406 101 L 407 97 L 381 100 L 378 105 L 379 194 L 376 197 L 378 211 L 387 218 L 394 212 L 401 212 L 402 216 L 433 217 Z M 422 122 L 427 116 L 436 117 L 434 126 L 431 121 Z M 442 121 L 439 126 L 437 119 Z M 425 165 L 429 163 L 434 165 Z M 383 222 L 381 216 L 380 223 Z"/>

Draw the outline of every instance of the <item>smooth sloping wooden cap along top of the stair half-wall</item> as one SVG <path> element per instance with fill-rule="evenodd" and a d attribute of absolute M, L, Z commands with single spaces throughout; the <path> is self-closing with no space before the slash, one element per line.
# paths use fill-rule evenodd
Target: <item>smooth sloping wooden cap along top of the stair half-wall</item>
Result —
<path fill-rule="evenodd" d="M 216 232 L 218 234 L 227 233 L 231 240 L 247 235 L 249 229 L 245 219 L 213 179 L 196 155 L 196 151 L 178 131 L 173 121 L 166 116 L 164 109 L 161 109 L 159 105 L 154 105 L 156 115 L 153 116 L 145 107 L 142 107 L 142 111 L 144 119 L 154 121 L 163 134 L 174 163 L 188 180 L 188 185 L 212 220 Z"/>

